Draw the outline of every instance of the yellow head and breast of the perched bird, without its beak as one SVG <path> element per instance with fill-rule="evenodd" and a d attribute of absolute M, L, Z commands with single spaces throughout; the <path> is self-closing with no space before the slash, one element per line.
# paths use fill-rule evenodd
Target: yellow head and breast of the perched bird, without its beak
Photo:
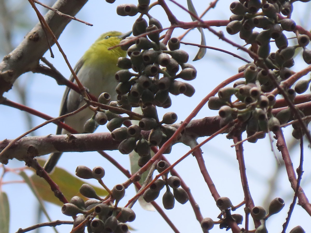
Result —
<path fill-rule="evenodd" d="M 102 34 L 91 47 L 83 55 L 84 65 L 87 66 L 103 66 L 103 72 L 107 72 L 109 67 L 112 72 L 118 71 L 117 61 L 119 57 L 125 57 L 126 51 L 120 47 L 108 50 L 108 48 L 118 45 L 123 39 L 122 33 L 111 31 Z"/>

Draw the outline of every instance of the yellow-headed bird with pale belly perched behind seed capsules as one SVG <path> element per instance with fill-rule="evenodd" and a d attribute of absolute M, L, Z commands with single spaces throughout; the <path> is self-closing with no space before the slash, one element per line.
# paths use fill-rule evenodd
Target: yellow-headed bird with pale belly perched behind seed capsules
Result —
<path fill-rule="evenodd" d="M 110 94 L 111 100 L 116 100 L 117 93 L 115 88 L 118 82 L 114 75 L 120 70 L 117 66 L 118 58 L 126 57 L 126 51 L 121 50 L 120 47 L 111 50 L 108 50 L 108 48 L 118 45 L 122 39 L 130 36 L 131 33 L 122 34 L 118 31 L 110 31 L 100 35 L 77 62 L 74 71 L 81 84 L 90 94 L 99 97 L 101 93 L 107 92 Z M 72 75 L 69 80 L 76 83 Z M 84 103 L 81 94 L 67 87 L 60 106 L 60 116 L 77 110 Z M 84 124 L 93 114 L 94 112 L 91 109 L 86 108 L 77 114 L 66 117 L 63 122 L 77 130 L 78 133 L 85 133 Z M 56 134 L 67 133 L 69 133 L 67 130 L 59 126 L 57 127 Z M 50 173 L 53 171 L 62 153 L 55 152 L 50 154 L 49 159 L 44 165 L 46 172 Z"/>

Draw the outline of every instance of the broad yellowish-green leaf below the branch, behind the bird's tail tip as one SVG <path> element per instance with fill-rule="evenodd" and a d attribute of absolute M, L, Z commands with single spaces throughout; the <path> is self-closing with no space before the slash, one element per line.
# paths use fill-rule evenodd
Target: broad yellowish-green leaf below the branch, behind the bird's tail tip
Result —
<path fill-rule="evenodd" d="M 39 164 L 41 166 L 44 165 L 44 160 L 38 160 Z M 69 201 L 73 196 L 80 196 L 83 200 L 87 200 L 84 196 L 82 196 L 79 193 L 79 189 L 81 185 L 88 184 L 84 182 L 83 180 L 77 178 L 77 176 L 74 176 L 67 172 L 66 170 L 55 167 L 55 170 L 52 174 L 50 174 L 51 179 L 58 185 L 59 189 L 62 191 L 64 196 Z M 36 174 L 32 175 L 30 177 L 31 181 L 33 182 L 35 188 L 38 190 L 39 196 L 48 202 L 54 203 L 56 205 L 62 206 L 63 203 L 54 196 L 54 193 L 52 192 L 50 185 L 41 177 L 37 176 Z M 89 184 L 91 185 L 91 184 Z M 108 192 L 103 189 L 96 187 L 94 185 L 91 185 L 96 193 L 99 196 L 106 196 L 108 195 Z"/>

